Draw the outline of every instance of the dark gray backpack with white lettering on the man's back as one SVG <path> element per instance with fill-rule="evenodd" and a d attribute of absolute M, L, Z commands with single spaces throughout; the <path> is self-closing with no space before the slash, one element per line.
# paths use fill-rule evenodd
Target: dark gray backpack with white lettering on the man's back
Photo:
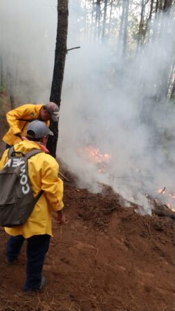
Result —
<path fill-rule="evenodd" d="M 43 190 L 34 198 L 28 178 L 28 159 L 41 152 L 34 149 L 24 154 L 9 149 L 8 161 L 0 171 L 0 226 L 23 225 L 42 196 Z"/>

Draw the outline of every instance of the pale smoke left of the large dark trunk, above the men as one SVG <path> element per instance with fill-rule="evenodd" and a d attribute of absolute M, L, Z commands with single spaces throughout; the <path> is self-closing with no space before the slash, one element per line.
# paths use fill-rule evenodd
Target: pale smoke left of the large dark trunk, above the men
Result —
<path fill-rule="evenodd" d="M 0 23 L 3 84 L 8 75 L 8 87 L 21 102 L 48 102 L 57 1 L 1 0 Z"/>

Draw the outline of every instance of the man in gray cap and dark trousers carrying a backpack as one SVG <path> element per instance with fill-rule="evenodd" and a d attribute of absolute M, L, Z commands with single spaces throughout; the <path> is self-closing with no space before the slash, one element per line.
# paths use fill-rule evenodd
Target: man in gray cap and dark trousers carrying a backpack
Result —
<path fill-rule="evenodd" d="M 21 246 L 27 241 L 27 267 L 25 291 L 39 290 L 43 287 L 46 278 L 42 276 L 44 258 L 48 251 L 50 236 L 52 233 L 51 212 L 55 211 L 55 217 L 59 223 L 65 223 L 63 214 L 63 182 L 58 178 L 59 164 L 47 154 L 46 142 L 48 135 L 53 132 L 44 122 L 35 120 L 28 124 L 26 137 L 14 145 L 17 152 L 27 153 L 32 149 L 40 149 L 44 152 L 37 153 L 28 159 L 28 178 L 33 189 L 33 195 L 37 196 L 44 191 L 24 225 L 8 228 L 5 227 L 10 239 L 6 245 L 6 262 L 15 263 L 20 253 Z M 0 161 L 0 170 L 8 161 L 8 150 L 3 153 Z"/>

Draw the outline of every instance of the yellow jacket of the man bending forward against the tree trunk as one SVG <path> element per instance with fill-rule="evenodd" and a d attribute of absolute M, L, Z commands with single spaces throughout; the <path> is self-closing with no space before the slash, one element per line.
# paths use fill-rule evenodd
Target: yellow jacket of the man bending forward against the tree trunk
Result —
<path fill-rule="evenodd" d="M 17 142 L 21 142 L 21 139 L 15 136 L 15 134 L 21 133 L 23 136 L 26 136 L 26 129 L 29 122 L 20 121 L 19 119 L 30 121 L 37 120 L 39 117 L 39 111 L 42 106 L 43 104 L 25 104 L 8 111 L 6 118 L 10 129 L 3 136 L 3 141 L 10 146 L 17 144 Z M 49 126 L 50 121 L 46 121 L 45 123 L 47 126 Z"/>

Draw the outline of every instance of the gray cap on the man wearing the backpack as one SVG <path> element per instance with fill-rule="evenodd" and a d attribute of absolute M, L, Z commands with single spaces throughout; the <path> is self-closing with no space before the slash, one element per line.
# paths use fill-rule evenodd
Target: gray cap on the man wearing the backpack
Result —
<path fill-rule="evenodd" d="M 27 136 L 30 138 L 43 138 L 46 135 L 52 135 L 53 132 L 42 121 L 35 120 L 30 122 L 27 127 Z"/>

